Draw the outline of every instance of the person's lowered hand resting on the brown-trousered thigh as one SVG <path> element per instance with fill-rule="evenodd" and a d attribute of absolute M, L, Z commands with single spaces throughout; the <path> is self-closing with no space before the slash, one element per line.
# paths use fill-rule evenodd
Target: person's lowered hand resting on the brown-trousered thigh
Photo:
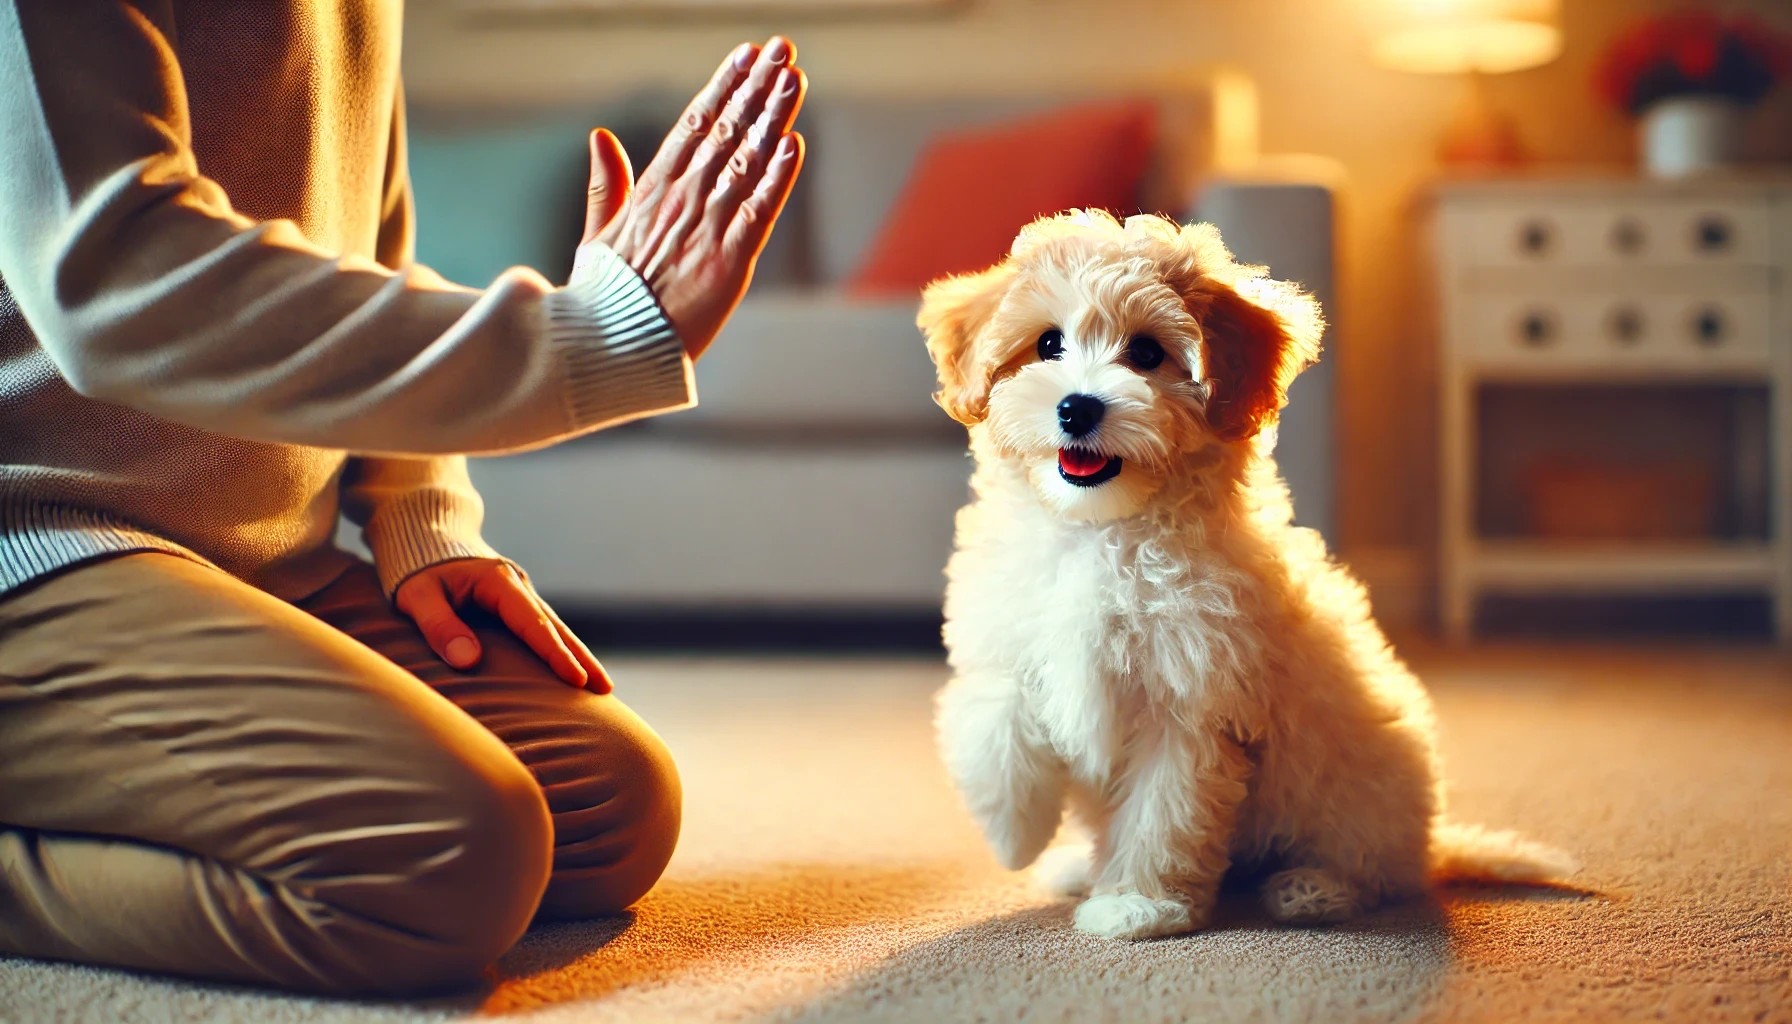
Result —
<path fill-rule="evenodd" d="M 392 603 L 418 624 L 435 656 L 455 669 L 471 669 L 484 655 L 478 637 L 457 613 L 471 603 L 496 615 L 568 685 L 599 694 L 611 690 L 604 665 L 597 664 L 597 656 L 573 637 L 559 615 L 536 597 L 509 561 L 496 558 L 439 561 L 400 583 Z"/>

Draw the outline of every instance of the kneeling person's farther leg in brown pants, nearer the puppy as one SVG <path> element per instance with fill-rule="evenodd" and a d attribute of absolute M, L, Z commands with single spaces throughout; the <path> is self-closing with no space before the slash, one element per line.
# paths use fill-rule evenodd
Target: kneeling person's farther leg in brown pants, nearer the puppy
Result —
<path fill-rule="evenodd" d="M 301 606 L 459 705 L 534 773 L 554 812 L 543 916 L 616 913 L 659 879 L 677 845 L 677 769 L 627 705 L 568 687 L 509 629 L 471 613 L 484 658 L 470 673 L 448 667 L 385 601 L 369 567 Z"/>

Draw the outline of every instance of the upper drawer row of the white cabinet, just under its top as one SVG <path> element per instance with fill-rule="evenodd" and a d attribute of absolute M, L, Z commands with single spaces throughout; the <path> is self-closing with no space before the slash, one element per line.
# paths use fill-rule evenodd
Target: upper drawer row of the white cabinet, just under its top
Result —
<path fill-rule="evenodd" d="M 1484 267 L 1765 265 L 1769 221 L 1749 199 L 1482 204 L 1469 253 Z"/>

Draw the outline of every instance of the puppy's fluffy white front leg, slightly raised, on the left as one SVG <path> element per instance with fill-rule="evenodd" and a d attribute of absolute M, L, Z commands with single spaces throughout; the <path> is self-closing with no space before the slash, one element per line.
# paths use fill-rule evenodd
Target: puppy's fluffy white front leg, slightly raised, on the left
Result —
<path fill-rule="evenodd" d="M 941 690 L 934 719 L 946 769 L 1009 870 L 1052 841 L 1068 780 L 1023 698 L 1012 678 L 962 674 Z"/>

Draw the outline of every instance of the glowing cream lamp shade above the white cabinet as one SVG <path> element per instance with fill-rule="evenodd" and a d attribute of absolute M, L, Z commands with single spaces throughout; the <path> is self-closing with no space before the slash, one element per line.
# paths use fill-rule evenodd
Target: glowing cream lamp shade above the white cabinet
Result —
<path fill-rule="evenodd" d="M 1563 52 L 1557 0 L 1389 0 L 1371 57 L 1394 72 L 1500 75 Z"/>

